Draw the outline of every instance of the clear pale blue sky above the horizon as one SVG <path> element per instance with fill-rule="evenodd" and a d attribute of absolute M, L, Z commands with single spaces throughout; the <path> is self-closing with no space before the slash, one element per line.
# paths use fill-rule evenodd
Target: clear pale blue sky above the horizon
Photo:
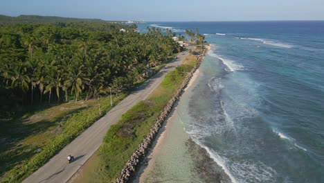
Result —
<path fill-rule="evenodd" d="M 0 15 L 140 21 L 324 20 L 324 0 L 0 0 Z"/>

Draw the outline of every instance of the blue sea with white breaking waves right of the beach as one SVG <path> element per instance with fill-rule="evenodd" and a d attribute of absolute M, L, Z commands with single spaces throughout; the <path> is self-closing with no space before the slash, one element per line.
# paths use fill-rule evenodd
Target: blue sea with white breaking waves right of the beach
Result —
<path fill-rule="evenodd" d="M 183 125 L 231 182 L 324 182 L 324 21 L 146 26 L 210 44 Z"/>

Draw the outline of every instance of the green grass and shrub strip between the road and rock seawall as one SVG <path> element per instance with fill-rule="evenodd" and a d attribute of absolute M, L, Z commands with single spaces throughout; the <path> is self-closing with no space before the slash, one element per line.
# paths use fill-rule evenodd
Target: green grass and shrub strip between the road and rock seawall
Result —
<path fill-rule="evenodd" d="M 120 175 L 123 166 L 143 137 L 150 132 L 152 124 L 177 91 L 183 78 L 197 63 L 195 56 L 188 56 L 186 63 L 168 73 L 145 101 L 132 107 L 116 125 L 109 128 L 100 147 L 100 165 L 93 171 L 95 175 L 92 175 L 91 182 L 114 182 Z"/>

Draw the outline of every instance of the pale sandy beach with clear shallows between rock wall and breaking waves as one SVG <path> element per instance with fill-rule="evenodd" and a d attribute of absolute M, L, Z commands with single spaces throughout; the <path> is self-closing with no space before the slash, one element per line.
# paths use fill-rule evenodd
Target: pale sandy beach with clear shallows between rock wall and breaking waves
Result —
<path fill-rule="evenodd" d="M 209 50 L 209 46 L 208 46 Z M 207 52 L 208 53 L 208 52 Z M 197 69 L 161 128 L 133 182 L 230 182 L 222 168 L 186 133 L 189 93 L 201 77 Z M 190 89 L 191 88 L 191 89 Z"/>

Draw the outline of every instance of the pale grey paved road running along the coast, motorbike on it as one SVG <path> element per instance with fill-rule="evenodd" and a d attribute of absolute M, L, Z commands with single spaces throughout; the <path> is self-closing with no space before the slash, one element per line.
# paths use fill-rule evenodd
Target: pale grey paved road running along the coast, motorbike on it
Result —
<path fill-rule="evenodd" d="M 147 98 L 159 86 L 165 74 L 171 71 L 177 64 L 180 64 L 187 55 L 188 52 L 185 52 L 184 55 L 180 53 L 177 59 L 168 63 L 159 73 L 156 73 L 150 80 L 143 83 L 141 87 L 138 87 L 135 92 L 129 94 L 123 101 L 120 101 L 105 116 L 63 148 L 60 153 L 27 177 L 24 182 L 67 182 L 87 162 L 89 157 L 98 150 L 110 126 L 116 124 L 121 119 L 122 114 L 127 112 L 136 103 Z M 68 164 L 67 155 L 73 155 L 75 161 Z"/>

